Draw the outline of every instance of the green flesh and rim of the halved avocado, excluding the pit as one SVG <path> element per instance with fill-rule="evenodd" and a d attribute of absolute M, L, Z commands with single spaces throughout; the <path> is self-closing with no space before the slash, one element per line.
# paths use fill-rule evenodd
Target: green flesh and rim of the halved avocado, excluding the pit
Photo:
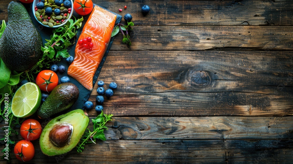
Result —
<path fill-rule="evenodd" d="M 88 122 L 88 116 L 86 116 L 81 109 L 70 111 L 52 119 L 45 126 L 40 136 L 40 147 L 42 152 L 47 156 L 56 156 L 71 151 L 72 148 L 79 143 L 84 131 L 88 127 Z M 62 124 L 71 124 L 73 126 L 73 132 L 68 144 L 65 146 L 56 146 L 50 140 L 49 134 L 54 126 Z"/>

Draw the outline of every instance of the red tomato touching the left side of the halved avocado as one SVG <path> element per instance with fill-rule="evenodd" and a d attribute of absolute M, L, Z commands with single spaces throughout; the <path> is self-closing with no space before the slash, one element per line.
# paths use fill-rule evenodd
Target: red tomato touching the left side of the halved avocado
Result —
<path fill-rule="evenodd" d="M 40 122 L 35 119 L 27 119 L 25 120 L 20 127 L 21 136 L 28 140 L 33 141 L 40 137 L 42 133 L 42 126 Z"/>

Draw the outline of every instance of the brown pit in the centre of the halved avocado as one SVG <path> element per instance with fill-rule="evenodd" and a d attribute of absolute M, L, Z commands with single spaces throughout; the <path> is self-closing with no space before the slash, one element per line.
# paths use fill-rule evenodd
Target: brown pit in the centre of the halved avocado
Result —
<path fill-rule="evenodd" d="M 50 141 L 56 146 L 65 146 L 70 142 L 73 133 L 71 124 L 55 125 L 49 133 Z"/>

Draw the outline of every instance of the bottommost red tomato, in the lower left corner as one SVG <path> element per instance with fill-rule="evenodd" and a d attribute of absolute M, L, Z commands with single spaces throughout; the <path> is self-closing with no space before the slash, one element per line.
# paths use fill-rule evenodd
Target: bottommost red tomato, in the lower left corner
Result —
<path fill-rule="evenodd" d="M 21 140 L 14 146 L 14 153 L 18 160 L 27 162 L 35 156 L 35 147 L 28 140 Z"/>

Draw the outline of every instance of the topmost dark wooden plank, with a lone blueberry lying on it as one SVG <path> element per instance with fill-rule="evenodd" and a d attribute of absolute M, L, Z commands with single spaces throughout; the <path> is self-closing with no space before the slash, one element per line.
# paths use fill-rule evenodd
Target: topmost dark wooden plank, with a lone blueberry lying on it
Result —
<path fill-rule="evenodd" d="M 7 5 L 0 3 L 0 20 L 8 20 Z M 98 1 L 95 4 L 124 16 L 136 25 L 293 25 L 292 1 Z M 178 3 L 179 2 L 179 3 Z M 141 7 L 149 5 L 149 14 Z M 127 9 L 119 12 L 119 8 Z"/>

